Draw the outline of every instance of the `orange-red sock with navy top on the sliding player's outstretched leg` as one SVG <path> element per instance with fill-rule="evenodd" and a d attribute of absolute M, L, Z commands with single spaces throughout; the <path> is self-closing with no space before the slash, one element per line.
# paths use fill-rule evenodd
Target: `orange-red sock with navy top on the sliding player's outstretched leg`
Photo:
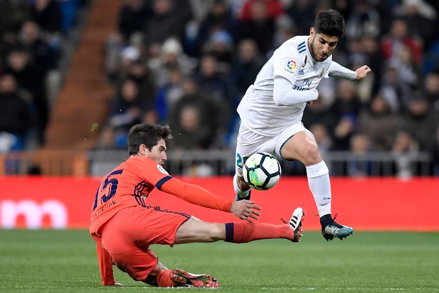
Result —
<path fill-rule="evenodd" d="M 226 238 L 224 241 L 247 243 L 253 240 L 286 238 L 292 240 L 294 232 L 288 225 L 273 225 L 266 223 L 226 223 Z"/>

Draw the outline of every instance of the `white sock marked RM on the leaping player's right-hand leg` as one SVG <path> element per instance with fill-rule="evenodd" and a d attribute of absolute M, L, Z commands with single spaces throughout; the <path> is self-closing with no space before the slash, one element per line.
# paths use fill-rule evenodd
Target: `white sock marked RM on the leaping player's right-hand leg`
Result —
<path fill-rule="evenodd" d="M 331 213 L 331 182 L 329 170 L 322 160 L 315 165 L 306 166 L 308 186 L 316 201 L 320 217 Z"/>

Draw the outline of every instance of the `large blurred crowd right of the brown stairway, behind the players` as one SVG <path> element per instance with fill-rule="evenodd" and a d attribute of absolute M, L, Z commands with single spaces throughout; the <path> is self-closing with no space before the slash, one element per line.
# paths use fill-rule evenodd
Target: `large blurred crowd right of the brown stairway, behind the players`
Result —
<path fill-rule="evenodd" d="M 125 0 L 107 43 L 117 88 L 98 149 L 125 148 L 129 127 L 168 123 L 172 149 L 234 148 L 235 111 L 273 51 L 309 34 L 328 8 L 345 17 L 334 60 L 372 74 L 325 79 L 303 123 L 325 150 L 438 153 L 437 1 Z"/>

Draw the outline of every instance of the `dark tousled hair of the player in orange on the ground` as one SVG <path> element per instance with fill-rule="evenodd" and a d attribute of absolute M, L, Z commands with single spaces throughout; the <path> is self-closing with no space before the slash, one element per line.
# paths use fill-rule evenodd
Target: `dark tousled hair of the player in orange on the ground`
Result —
<path fill-rule="evenodd" d="M 145 145 L 151 150 L 161 138 L 165 141 L 172 139 L 171 128 L 168 125 L 137 124 L 131 127 L 128 133 L 128 152 L 130 156 L 137 154 L 140 145 Z"/>

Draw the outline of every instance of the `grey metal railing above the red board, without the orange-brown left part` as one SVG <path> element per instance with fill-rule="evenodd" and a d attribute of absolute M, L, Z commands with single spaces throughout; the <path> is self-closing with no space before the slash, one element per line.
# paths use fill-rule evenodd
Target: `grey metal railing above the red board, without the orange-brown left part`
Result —
<path fill-rule="evenodd" d="M 235 152 L 231 150 L 167 151 L 166 169 L 170 174 L 192 176 L 230 175 L 235 170 Z M 321 154 L 331 175 L 335 176 L 429 176 L 433 173 L 431 156 L 426 152 L 331 151 Z M 126 151 L 90 151 L 90 174 L 104 175 L 128 157 Z M 304 175 L 299 162 L 279 160 L 284 175 Z"/>

